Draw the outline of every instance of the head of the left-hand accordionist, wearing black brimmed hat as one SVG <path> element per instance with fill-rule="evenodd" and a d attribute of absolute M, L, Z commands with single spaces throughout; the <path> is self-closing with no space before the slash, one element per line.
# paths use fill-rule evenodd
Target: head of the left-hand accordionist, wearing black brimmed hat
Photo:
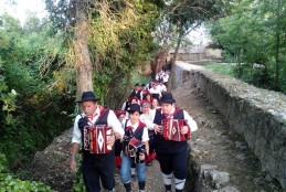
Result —
<path fill-rule="evenodd" d="M 95 97 L 93 92 L 84 92 L 81 100 L 77 100 L 76 103 L 81 104 L 85 115 L 92 116 L 96 110 L 97 100 L 99 99 Z"/>

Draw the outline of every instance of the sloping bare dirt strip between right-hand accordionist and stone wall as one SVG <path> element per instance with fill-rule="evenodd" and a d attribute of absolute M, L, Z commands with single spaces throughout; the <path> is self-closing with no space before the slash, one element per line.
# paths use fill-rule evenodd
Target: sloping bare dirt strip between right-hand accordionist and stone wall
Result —
<path fill-rule="evenodd" d="M 193 87 L 191 81 L 181 84 L 173 92 L 173 96 L 177 105 L 189 111 L 199 125 L 199 130 L 191 136 L 191 157 L 195 169 L 203 164 L 216 167 L 218 172 L 230 174 L 226 184 L 241 192 L 283 191 L 279 184 L 263 171 L 245 140 L 232 130 L 203 93 Z M 222 189 L 222 182 L 212 182 L 214 188 Z M 225 191 L 235 191 L 233 188 L 227 189 Z"/>

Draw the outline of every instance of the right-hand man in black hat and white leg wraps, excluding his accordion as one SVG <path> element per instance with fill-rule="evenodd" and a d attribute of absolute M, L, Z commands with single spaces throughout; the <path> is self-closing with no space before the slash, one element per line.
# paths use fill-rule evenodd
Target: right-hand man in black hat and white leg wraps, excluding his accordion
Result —
<path fill-rule="evenodd" d="M 161 125 L 162 121 L 172 119 L 184 120 L 179 131 L 181 138 L 184 138 L 181 141 L 163 137 L 161 128 L 155 127 L 155 149 L 160 163 L 166 192 L 171 191 L 172 178 L 174 178 L 176 192 L 182 192 L 187 178 L 187 140 L 190 139 L 190 132 L 198 129 L 198 125 L 186 110 L 174 106 L 176 100 L 172 94 L 163 94 L 160 103 L 161 109 L 156 110 L 155 124 Z"/>

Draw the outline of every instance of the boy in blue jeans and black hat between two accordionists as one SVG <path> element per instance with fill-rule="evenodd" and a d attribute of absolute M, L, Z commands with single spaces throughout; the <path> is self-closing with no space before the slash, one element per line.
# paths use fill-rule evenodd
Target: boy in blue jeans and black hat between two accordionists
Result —
<path fill-rule="evenodd" d="M 130 192 L 130 167 L 133 161 L 136 162 L 139 191 L 144 192 L 146 182 L 145 160 L 149 153 L 148 129 L 139 119 L 141 110 L 138 104 L 133 104 L 127 111 L 129 113 L 130 119 L 127 119 L 124 126 L 125 136 L 123 139 L 124 147 L 121 153 L 123 163 L 120 169 L 120 178 L 126 188 L 126 192 Z M 141 143 L 144 143 L 144 146 Z"/>

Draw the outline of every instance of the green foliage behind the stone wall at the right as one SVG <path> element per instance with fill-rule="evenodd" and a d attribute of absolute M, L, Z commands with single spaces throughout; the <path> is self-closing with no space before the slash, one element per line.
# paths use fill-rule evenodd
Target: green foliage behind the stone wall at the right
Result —
<path fill-rule="evenodd" d="M 263 88 L 286 93 L 286 2 L 234 1 L 229 15 L 211 26 L 214 44 L 235 76 Z"/>

